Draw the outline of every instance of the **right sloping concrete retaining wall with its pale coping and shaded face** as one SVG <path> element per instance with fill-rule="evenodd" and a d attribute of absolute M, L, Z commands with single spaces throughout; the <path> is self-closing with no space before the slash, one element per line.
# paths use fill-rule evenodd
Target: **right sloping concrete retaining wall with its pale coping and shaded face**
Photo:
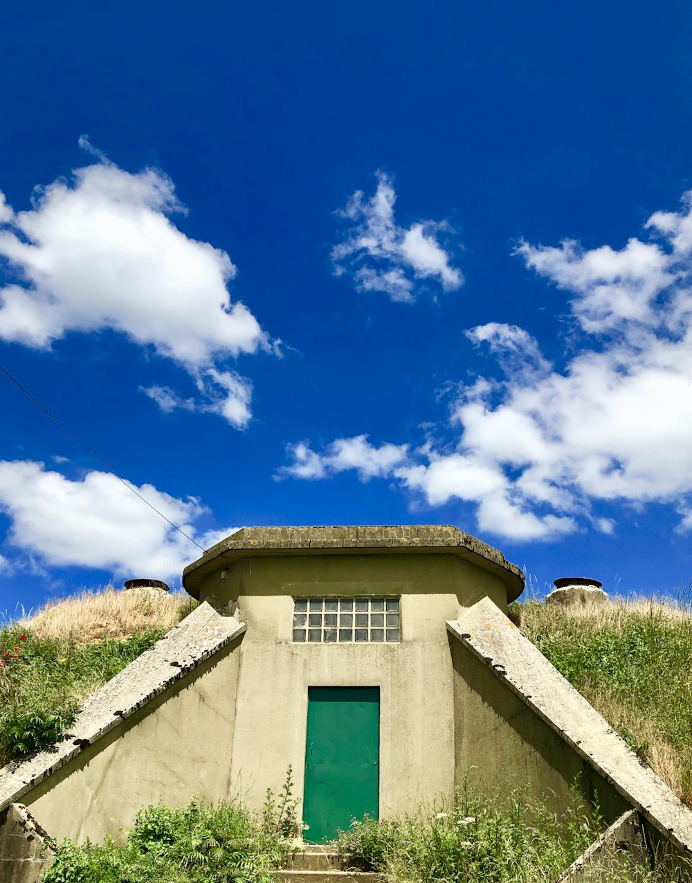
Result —
<path fill-rule="evenodd" d="M 456 770 L 563 810 L 578 782 L 608 823 L 638 811 L 654 843 L 692 857 L 692 811 L 488 598 L 447 623 L 455 669 Z"/>

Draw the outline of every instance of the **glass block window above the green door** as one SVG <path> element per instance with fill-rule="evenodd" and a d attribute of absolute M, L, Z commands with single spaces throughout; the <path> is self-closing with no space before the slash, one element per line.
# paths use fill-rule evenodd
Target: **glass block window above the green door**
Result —
<path fill-rule="evenodd" d="M 392 644 L 401 640 L 398 598 L 294 598 L 297 644 Z"/>

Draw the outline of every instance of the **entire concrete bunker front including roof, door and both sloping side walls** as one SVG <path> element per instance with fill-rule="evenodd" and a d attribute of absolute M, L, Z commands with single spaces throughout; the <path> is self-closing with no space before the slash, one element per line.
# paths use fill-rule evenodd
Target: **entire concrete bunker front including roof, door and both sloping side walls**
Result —
<path fill-rule="evenodd" d="M 192 796 L 259 809 L 289 766 L 306 841 L 444 800 L 472 770 L 556 811 L 576 783 L 606 841 L 689 855 L 692 813 L 509 621 L 523 574 L 485 543 L 437 525 L 245 528 L 183 582 L 199 608 L 53 750 L 0 771 L 0 883 L 39 879 L 37 832 L 117 838 L 143 805 Z"/>

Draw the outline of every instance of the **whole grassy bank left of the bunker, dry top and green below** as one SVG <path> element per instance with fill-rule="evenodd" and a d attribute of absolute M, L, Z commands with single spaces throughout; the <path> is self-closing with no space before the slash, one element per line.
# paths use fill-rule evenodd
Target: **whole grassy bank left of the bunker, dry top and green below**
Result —
<path fill-rule="evenodd" d="M 84 699 L 162 638 L 190 601 L 109 587 L 0 630 L 0 766 L 55 743 Z"/>

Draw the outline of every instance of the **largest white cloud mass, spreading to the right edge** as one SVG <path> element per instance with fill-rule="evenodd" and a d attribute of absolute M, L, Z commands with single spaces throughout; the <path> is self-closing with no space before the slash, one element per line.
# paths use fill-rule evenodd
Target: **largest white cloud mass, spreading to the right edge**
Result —
<path fill-rule="evenodd" d="M 523 328 L 471 328 L 504 376 L 463 389 L 436 433 L 446 443 L 368 444 L 353 449 L 350 468 L 401 450 L 376 474 L 430 506 L 471 502 L 482 531 L 512 540 L 587 525 L 612 533 L 613 517 L 592 512 L 597 502 L 669 504 L 678 529 L 692 530 L 692 194 L 646 229 L 651 241 L 631 238 L 620 251 L 519 245 L 528 268 L 570 292 L 581 348 L 559 368 Z M 333 446 L 290 453 L 289 474 L 301 477 L 301 464 L 312 478 L 335 472 Z"/>

